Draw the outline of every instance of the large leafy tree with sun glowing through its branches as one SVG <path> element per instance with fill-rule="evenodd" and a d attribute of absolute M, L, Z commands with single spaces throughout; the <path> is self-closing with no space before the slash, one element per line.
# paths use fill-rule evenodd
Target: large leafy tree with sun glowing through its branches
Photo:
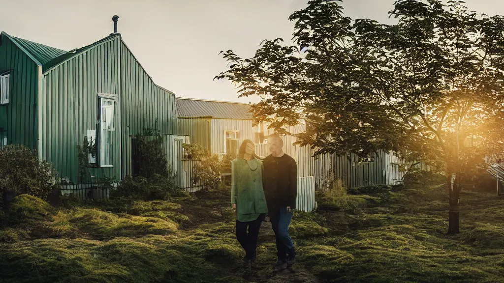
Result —
<path fill-rule="evenodd" d="M 386 25 L 345 17 L 339 2 L 292 14 L 296 45 L 267 40 L 253 58 L 224 52 L 229 69 L 216 78 L 259 95 L 253 116 L 277 131 L 304 120 L 298 143 L 316 154 L 392 150 L 442 168 L 448 232 L 459 233 L 462 184 L 503 152 L 504 18 L 462 1 L 400 0 Z"/>

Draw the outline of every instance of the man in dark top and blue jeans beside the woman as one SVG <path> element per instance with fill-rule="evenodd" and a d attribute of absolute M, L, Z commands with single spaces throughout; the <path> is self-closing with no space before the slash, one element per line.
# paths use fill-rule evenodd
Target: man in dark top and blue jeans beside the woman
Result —
<path fill-rule="evenodd" d="M 274 269 L 280 271 L 296 262 L 289 225 L 292 209 L 296 208 L 297 166 L 296 161 L 283 152 L 280 135 L 273 134 L 268 137 L 268 148 L 271 154 L 263 162 L 263 187 L 277 244 L 278 262 Z"/>

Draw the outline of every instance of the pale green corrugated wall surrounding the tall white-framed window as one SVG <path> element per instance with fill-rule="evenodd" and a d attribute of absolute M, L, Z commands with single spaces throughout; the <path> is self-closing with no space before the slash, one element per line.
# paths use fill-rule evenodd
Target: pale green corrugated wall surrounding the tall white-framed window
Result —
<path fill-rule="evenodd" d="M 78 180 L 78 150 L 87 130 L 95 130 L 98 112 L 98 93 L 119 96 L 116 117 L 120 117 L 118 37 L 49 70 L 43 76 L 40 99 L 42 120 L 40 121 L 41 148 L 43 159 L 54 164 L 62 177 Z M 120 171 L 120 118 L 116 119 L 113 134 L 112 164 L 109 168 L 90 168 L 95 177 L 121 178 Z"/>

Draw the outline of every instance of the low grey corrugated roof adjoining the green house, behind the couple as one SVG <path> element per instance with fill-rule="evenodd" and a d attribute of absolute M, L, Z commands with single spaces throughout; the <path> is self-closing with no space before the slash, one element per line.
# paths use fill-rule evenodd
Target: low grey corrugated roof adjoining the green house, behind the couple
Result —
<path fill-rule="evenodd" d="M 178 118 L 252 119 L 250 105 L 245 103 L 177 97 L 176 104 Z"/>

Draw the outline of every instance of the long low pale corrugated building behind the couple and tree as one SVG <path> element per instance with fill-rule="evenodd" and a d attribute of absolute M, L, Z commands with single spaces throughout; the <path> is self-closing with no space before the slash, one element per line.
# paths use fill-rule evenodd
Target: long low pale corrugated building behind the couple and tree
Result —
<path fill-rule="evenodd" d="M 191 143 L 198 143 L 214 154 L 236 154 L 243 140 L 251 139 L 259 156 L 269 155 L 264 137 L 272 134 L 273 129 L 268 128 L 267 122 L 253 124 L 249 104 L 176 98 L 176 106 L 179 134 L 190 136 Z M 313 157 L 310 146 L 293 145 L 295 134 L 303 132 L 304 125 L 289 126 L 287 131 L 292 135 L 283 136 L 284 152 L 296 160 L 299 184 L 303 186 L 312 183 L 310 187 L 322 188 L 334 178 L 341 179 L 347 187 L 401 182 L 403 173 L 397 165 L 400 161 L 392 153 L 379 152 L 364 162 L 354 154 Z"/>

